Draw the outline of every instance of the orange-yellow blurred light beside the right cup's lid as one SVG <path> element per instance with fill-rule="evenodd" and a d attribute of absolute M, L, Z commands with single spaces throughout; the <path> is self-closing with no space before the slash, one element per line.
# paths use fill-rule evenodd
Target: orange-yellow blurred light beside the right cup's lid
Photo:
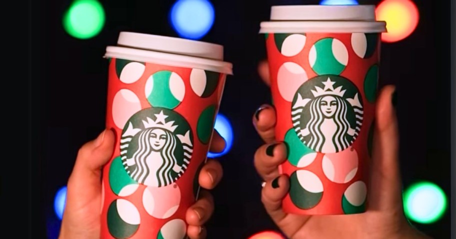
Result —
<path fill-rule="evenodd" d="M 411 0 L 383 0 L 375 9 L 377 20 L 386 21 L 388 32 L 381 34 L 384 42 L 405 39 L 418 25 L 419 12 Z"/>

